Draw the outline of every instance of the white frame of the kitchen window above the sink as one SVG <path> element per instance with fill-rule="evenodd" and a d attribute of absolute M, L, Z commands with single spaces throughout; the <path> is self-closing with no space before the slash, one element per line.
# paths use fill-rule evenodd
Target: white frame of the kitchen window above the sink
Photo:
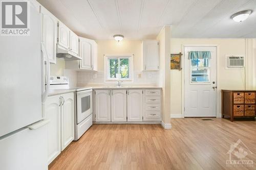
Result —
<path fill-rule="evenodd" d="M 113 82 L 113 81 L 124 81 L 124 82 L 133 82 L 133 54 L 108 54 L 104 55 L 104 82 Z M 130 78 L 110 78 L 110 59 L 129 59 L 129 76 Z M 118 62 L 118 72 L 120 71 L 120 62 Z"/>

